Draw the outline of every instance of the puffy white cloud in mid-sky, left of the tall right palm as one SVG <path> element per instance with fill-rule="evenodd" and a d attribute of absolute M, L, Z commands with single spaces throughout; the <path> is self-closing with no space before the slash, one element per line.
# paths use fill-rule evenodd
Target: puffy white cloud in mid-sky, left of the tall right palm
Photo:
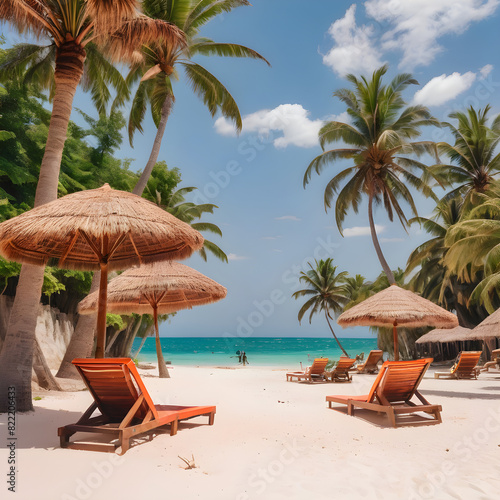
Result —
<path fill-rule="evenodd" d="M 274 109 L 262 109 L 244 116 L 242 132 L 256 132 L 278 149 L 288 145 L 312 148 L 318 145 L 318 132 L 323 124 L 323 120 L 311 120 L 309 111 L 300 104 L 280 104 Z M 236 135 L 234 125 L 223 116 L 217 118 L 214 126 L 221 135 Z"/>

